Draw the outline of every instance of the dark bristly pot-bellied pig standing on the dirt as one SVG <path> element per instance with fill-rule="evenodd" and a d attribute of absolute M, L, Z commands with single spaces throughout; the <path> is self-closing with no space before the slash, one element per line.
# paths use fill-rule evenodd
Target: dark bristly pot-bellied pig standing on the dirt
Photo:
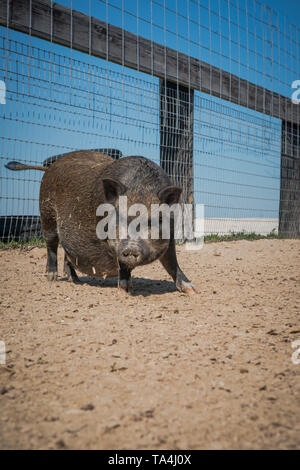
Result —
<path fill-rule="evenodd" d="M 151 160 L 142 156 L 115 160 L 101 152 L 80 150 L 65 154 L 48 168 L 19 162 L 9 162 L 6 167 L 45 172 L 39 202 L 49 281 L 57 280 L 60 242 L 65 252 L 64 272 L 74 283 L 80 282 L 76 270 L 89 276 L 117 276 L 119 287 L 131 292 L 132 270 L 159 260 L 179 291 L 198 292 L 178 265 L 174 226 L 169 239 L 117 236 L 103 240 L 97 236 L 100 204 L 112 204 L 118 213 L 122 195 L 127 196 L 128 207 L 179 202 L 181 188 L 173 186 L 164 170 Z"/>

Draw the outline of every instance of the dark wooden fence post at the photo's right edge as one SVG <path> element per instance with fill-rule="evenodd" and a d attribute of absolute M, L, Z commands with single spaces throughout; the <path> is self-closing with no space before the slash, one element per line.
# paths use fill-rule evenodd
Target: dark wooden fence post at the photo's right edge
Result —
<path fill-rule="evenodd" d="M 300 238 L 300 126 L 282 121 L 279 234 Z"/>

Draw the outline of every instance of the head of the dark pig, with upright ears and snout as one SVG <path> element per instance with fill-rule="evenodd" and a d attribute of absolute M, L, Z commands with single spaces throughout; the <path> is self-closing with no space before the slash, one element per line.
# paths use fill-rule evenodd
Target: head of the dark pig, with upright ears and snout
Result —
<path fill-rule="evenodd" d="M 103 189 L 106 202 L 115 210 L 113 217 L 115 217 L 116 232 L 114 237 L 107 239 L 107 243 L 119 265 L 131 271 L 136 266 L 148 264 L 160 258 L 167 250 L 170 239 L 163 237 L 164 215 L 159 213 L 158 206 L 164 204 L 167 208 L 177 204 L 181 188 L 166 185 L 157 190 L 156 186 L 152 188 L 139 186 L 134 190 L 129 190 L 122 182 L 105 178 Z M 153 219 L 154 213 L 157 216 Z M 172 236 L 174 230 L 172 213 L 169 223 L 170 236 Z M 155 234 L 154 227 L 156 227 Z"/>

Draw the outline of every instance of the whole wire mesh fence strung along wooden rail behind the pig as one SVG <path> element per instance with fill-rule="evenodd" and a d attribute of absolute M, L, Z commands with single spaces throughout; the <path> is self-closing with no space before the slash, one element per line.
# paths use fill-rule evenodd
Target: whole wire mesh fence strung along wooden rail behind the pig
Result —
<path fill-rule="evenodd" d="M 160 164 L 206 234 L 299 236 L 286 17 L 255 0 L 1 0 L 0 23 L 1 240 L 41 236 L 42 174 L 4 164 L 79 149 Z"/>

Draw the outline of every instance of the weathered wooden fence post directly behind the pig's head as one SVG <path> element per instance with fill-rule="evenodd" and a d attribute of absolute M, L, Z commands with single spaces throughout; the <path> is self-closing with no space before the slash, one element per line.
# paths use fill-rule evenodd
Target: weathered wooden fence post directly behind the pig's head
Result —
<path fill-rule="evenodd" d="M 160 79 L 160 164 L 193 204 L 194 90 Z"/>

